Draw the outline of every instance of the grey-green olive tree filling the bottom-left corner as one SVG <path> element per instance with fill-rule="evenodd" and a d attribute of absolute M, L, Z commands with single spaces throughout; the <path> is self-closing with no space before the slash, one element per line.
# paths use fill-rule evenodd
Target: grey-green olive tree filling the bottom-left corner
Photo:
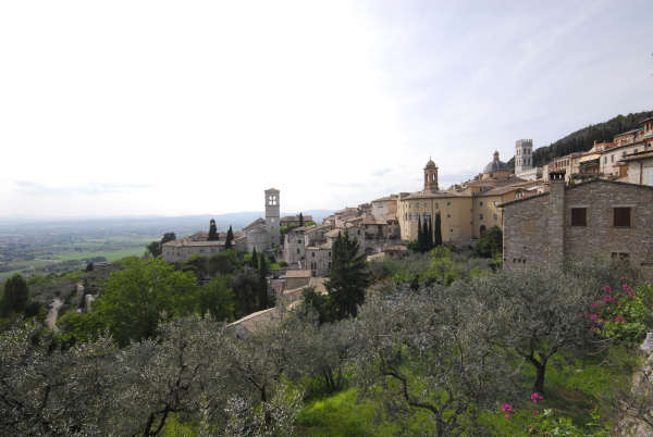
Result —
<path fill-rule="evenodd" d="M 41 334 L 25 325 L 0 335 L 0 434 L 106 434 L 120 377 L 115 344 L 100 336 L 62 351 Z"/>

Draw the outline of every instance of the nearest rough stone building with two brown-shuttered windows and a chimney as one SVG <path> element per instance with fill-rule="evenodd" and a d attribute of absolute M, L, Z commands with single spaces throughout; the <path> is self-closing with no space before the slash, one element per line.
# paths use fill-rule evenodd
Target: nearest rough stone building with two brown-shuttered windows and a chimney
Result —
<path fill-rule="evenodd" d="M 653 276 L 653 187 L 604 179 L 567 185 L 502 204 L 504 266 L 555 267 L 595 255 L 628 259 Z"/>

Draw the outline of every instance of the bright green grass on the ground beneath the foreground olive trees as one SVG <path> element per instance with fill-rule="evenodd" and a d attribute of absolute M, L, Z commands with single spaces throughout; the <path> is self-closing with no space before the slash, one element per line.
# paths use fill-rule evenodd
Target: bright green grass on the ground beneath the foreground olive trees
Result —
<path fill-rule="evenodd" d="M 555 357 L 546 371 L 544 401 L 538 405 L 530 402 L 529 387 L 534 371 L 525 365 L 519 382 L 523 387 L 523 399 L 497 399 L 496 412 L 484 413 L 481 423 L 493 435 L 526 436 L 533 410 L 553 409 L 556 415 L 570 417 L 577 426 L 583 426 L 591 421 L 590 410 L 597 408 L 602 422 L 613 426 L 617 417 L 609 401 L 614 399 L 615 389 L 630 384 L 630 375 L 638 363 L 633 348 L 616 347 L 607 354 L 583 359 L 571 354 Z M 509 420 L 500 411 L 500 405 L 506 401 L 517 411 Z M 432 432 L 424 412 L 417 411 L 405 420 L 390 419 L 380 401 L 359 401 L 355 388 L 310 401 L 301 411 L 297 425 L 297 434 L 305 436 L 391 436 L 404 429 L 418 434 Z"/>

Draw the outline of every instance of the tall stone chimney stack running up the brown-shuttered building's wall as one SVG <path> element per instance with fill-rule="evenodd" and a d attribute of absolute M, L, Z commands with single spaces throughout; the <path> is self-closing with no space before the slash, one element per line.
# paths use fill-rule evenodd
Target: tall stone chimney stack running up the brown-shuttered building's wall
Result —
<path fill-rule="evenodd" d="M 549 266 L 559 269 L 565 262 L 565 173 L 549 175 Z"/>

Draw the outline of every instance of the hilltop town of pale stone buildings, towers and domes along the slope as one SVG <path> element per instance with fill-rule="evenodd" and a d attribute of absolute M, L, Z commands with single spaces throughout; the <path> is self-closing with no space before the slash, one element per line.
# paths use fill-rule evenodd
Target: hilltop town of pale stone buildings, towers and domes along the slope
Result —
<path fill-rule="evenodd" d="M 653 234 L 644 223 L 653 220 L 652 145 L 653 117 L 612 141 L 595 141 L 591 150 L 541 166 L 533 166 L 533 141 L 519 139 L 514 172 L 495 151 L 476 177 L 446 189 L 441 189 L 439 167 L 429 159 L 421 190 L 345 208 L 319 224 L 310 216 L 281 217 L 281 192 L 270 188 L 264 191 L 264 218 L 236 232 L 233 248 L 268 251 L 281 262 L 270 276 L 278 294 L 315 286 L 328 276 L 341 233 L 356 239 L 369 259 L 401 258 L 426 226 L 439 228 L 442 241 L 452 245 L 473 245 L 498 227 L 507 269 L 605 253 L 630 258 L 649 272 Z M 209 240 L 199 232 L 163 244 L 162 255 L 178 263 L 190 255 L 210 257 L 225 245 L 226 234 Z"/>

